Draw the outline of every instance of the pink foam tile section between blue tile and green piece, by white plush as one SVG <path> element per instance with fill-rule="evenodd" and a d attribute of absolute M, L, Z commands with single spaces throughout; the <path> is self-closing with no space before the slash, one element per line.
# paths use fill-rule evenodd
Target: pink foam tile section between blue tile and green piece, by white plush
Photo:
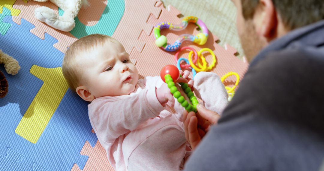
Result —
<path fill-rule="evenodd" d="M 13 7 L 16 9 L 20 9 L 21 12 L 18 16 L 12 16 L 12 20 L 17 24 L 20 24 L 21 18 L 26 19 L 35 26 L 35 28 L 30 30 L 31 33 L 35 34 L 41 39 L 45 39 L 44 34 L 48 33 L 49 35 L 58 40 L 58 42 L 55 43 L 53 46 L 56 49 L 65 52 L 67 50 L 67 47 L 70 46 L 77 39 L 69 32 L 54 29 L 36 19 L 36 17 L 34 16 L 34 11 L 36 8 L 41 6 L 47 6 L 55 10 L 58 14 L 58 7 L 49 1 L 42 3 L 36 1 L 29 1 L 28 3 L 25 3 L 23 0 L 17 0 Z"/>

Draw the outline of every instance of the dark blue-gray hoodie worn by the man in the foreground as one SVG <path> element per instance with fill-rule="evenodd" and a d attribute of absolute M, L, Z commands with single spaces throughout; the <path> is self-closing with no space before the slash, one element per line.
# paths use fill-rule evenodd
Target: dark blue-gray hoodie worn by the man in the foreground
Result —
<path fill-rule="evenodd" d="M 185 170 L 318 171 L 323 160 L 324 20 L 254 58 Z"/>

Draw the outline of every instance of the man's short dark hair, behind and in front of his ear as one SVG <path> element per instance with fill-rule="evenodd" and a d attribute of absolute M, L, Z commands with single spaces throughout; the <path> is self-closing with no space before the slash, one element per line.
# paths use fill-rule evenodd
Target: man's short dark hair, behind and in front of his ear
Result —
<path fill-rule="evenodd" d="M 259 0 L 241 0 L 243 17 L 253 17 Z M 287 29 L 303 27 L 324 19 L 324 0 L 272 0 Z"/>

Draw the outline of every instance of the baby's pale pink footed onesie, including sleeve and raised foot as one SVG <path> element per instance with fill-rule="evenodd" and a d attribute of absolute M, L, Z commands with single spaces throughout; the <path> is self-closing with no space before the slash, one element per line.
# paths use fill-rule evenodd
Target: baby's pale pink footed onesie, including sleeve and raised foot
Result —
<path fill-rule="evenodd" d="M 88 105 L 89 119 L 110 164 L 119 170 L 179 170 L 191 152 L 184 136 L 184 108 L 174 110 L 156 98 L 160 77 L 139 79 L 130 95 L 99 97 Z M 221 113 L 227 92 L 214 73 L 200 72 L 195 94 L 206 108 Z"/>

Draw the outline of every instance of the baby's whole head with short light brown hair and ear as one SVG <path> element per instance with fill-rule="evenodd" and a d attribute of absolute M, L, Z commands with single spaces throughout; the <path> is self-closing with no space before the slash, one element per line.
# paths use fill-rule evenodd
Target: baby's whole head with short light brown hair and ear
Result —
<path fill-rule="evenodd" d="M 86 101 L 130 94 L 138 80 L 121 43 L 101 34 L 75 41 L 65 53 L 62 69 L 70 88 Z"/>

